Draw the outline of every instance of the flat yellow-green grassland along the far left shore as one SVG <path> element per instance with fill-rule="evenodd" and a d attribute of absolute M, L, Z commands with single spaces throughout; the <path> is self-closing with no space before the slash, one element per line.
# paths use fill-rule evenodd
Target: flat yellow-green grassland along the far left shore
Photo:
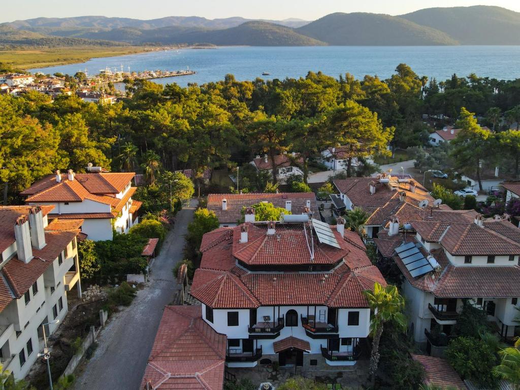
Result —
<path fill-rule="evenodd" d="M 66 63 L 85 62 L 95 57 L 143 53 L 154 48 L 145 46 L 74 46 L 0 50 L 0 58 L 13 68 L 44 68 Z"/>

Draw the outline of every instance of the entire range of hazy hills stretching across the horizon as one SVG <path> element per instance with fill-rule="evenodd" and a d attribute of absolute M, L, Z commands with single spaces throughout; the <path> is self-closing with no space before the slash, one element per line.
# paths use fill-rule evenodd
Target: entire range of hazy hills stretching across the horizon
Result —
<path fill-rule="evenodd" d="M 0 44 L 520 45 L 520 34 L 514 33 L 519 29 L 519 12 L 495 6 L 426 8 L 400 16 L 338 12 L 311 22 L 83 16 L 0 24 Z"/>

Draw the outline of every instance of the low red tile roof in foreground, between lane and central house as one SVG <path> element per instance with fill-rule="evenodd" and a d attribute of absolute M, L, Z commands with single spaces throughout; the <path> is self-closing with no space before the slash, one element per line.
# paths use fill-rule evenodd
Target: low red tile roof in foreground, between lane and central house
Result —
<path fill-rule="evenodd" d="M 202 320 L 200 305 L 166 306 L 140 388 L 222 390 L 226 341 Z"/>

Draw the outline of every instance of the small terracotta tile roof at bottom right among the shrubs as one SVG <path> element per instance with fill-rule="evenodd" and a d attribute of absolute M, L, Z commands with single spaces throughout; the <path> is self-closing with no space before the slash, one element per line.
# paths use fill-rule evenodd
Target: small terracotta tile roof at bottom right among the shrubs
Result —
<path fill-rule="evenodd" d="M 424 367 L 424 371 L 426 371 L 425 384 L 441 387 L 451 386 L 457 390 L 467 390 L 459 374 L 446 359 L 414 354 L 412 354 L 412 359 L 420 362 Z"/>

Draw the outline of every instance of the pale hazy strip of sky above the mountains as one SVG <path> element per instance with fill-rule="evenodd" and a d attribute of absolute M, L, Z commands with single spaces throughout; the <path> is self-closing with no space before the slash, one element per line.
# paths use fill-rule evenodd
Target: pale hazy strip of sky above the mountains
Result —
<path fill-rule="evenodd" d="M 518 0 L 18 0 L 2 1 L 0 22 L 37 17 L 84 15 L 154 19 L 242 16 L 250 19 L 315 20 L 332 12 L 377 12 L 401 15 L 421 8 L 495 5 L 520 12 Z"/>

